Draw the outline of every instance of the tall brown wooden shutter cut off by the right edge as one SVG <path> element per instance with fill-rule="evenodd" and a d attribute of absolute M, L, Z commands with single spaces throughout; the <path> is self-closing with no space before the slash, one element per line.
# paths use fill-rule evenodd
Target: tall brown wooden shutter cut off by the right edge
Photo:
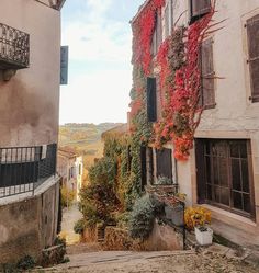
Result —
<path fill-rule="evenodd" d="M 259 14 L 247 21 L 248 64 L 252 102 L 259 102 Z"/>

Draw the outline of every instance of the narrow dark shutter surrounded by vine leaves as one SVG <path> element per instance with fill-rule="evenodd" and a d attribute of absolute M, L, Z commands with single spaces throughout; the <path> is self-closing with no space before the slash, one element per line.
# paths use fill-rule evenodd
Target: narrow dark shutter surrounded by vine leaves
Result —
<path fill-rule="evenodd" d="M 156 78 L 147 78 L 147 121 L 157 121 Z"/>

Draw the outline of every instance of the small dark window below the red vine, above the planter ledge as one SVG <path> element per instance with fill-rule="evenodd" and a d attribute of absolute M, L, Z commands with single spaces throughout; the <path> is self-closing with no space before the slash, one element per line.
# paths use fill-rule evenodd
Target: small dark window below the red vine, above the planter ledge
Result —
<path fill-rule="evenodd" d="M 157 178 L 166 177 L 172 180 L 172 159 L 171 159 L 171 149 L 162 148 L 156 150 L 157 156 Z"/>

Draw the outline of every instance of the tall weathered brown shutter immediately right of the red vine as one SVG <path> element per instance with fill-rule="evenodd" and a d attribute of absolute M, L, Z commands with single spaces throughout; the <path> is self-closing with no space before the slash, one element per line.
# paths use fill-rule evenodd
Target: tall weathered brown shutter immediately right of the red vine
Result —
<path fill-rule="evenodd" d="M 213 39 L 202 43 L 200 52 L 201 93 L 200 104 L 204 109 L 215 107 L 214 67 L 213 67 Z"/>

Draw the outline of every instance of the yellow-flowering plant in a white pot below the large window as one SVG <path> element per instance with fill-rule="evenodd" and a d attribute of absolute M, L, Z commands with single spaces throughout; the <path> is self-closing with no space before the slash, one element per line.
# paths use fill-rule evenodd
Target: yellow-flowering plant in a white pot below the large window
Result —
<path fill-rule="evenodd" d="M 184 221 L 189 230 L 195 232 L 196 241 L 200 246 L 212 244 L 213 230 L 210 227 L 211 212 L 202 206 L 189 207 L 184 213 Z"/>

